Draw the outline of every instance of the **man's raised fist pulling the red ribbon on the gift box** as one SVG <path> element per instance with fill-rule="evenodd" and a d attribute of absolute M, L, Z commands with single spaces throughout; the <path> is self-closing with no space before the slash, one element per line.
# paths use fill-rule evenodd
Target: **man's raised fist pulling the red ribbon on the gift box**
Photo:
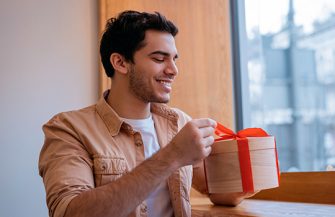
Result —
<path fill-rule="evenodd" d="M 212 119 L 193 119 L 179 131 L 168 145 L 179 166 L 193 165 L 211 153 L 215 127 Z"/>

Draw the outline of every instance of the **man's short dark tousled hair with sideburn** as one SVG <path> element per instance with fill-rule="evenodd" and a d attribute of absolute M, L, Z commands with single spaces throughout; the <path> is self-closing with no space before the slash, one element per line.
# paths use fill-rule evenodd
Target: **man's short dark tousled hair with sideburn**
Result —
<path fill-rule="evenodd" d="M 144 46 L 146 30 L 168 32 L 172 36 L 178 33 L 178 28 L 158 12 L 124 11 L 107 21 L 100 41 L 100 56 L 108 77 L 114 75 L 114 68 L 110 63 L 112 53 L 119 53 L 126 60 L 134 62 L 135 51 Z"/>

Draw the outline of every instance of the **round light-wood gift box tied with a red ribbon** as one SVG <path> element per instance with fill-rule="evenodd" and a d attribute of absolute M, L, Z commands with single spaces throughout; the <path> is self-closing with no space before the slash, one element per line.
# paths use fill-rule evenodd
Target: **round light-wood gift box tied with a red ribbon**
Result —
<path fill-rule="evenodd" d="M 210 194 L 255 192 L 279 186 L 276 142 L 260 128 L 238 133 L 218 124 L 220 136 L 204 160 Z"/>

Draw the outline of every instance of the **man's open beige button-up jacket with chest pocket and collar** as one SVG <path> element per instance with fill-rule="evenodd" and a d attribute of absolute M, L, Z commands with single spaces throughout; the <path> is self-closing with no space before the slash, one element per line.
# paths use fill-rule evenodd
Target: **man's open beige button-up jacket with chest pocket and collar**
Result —
<path fill-rule="evenodd" d="M 180 110 L 152 104 L 158 141 L 167 145 L 190 120 Z M 70 201 L 83 191 L 113 182 L 144 160 L 141 136 L 101 98 L 96 105 L 56 115 L 43 126 L 39 172 L 45 185 L 49 215 L 63 217 Z M 168 179 L 176 217 L 191 216 L 192 166 Z M 143 202 L 130 215 L 147 216 Z"/>

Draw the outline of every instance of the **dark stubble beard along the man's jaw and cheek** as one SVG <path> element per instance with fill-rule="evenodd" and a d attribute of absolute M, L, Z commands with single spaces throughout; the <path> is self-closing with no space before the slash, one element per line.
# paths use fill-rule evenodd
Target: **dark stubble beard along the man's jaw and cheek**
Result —
<path fill-rule="evenodd" d="M 155 95 L 154 90 L 145 82 L 141 72 L 137 72 L 132 66 L 128 72 L 129 89 L 138 99 L 145 103 L 168 103 L 169 99 L 162 99 Z"/>

